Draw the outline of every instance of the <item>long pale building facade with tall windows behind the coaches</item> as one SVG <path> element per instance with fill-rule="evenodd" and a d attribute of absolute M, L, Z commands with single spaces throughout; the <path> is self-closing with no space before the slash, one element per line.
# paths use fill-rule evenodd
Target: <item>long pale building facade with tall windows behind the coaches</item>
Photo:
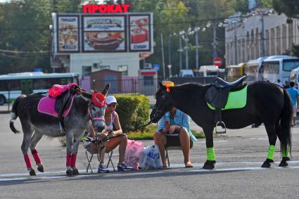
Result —
<path fill-rule="evenodd" d="M 226 64 L 237 65 L 263 56 L 287 55 L 299 45 L 299 19 L 258 9 L 246 20 L 234 18 L 225 28 Z M 241 22 L 242 20 L 242 22 Z"/>

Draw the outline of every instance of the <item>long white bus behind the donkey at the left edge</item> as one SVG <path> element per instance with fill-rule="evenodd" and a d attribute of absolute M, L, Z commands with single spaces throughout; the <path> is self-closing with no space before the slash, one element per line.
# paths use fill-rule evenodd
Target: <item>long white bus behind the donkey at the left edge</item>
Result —
<path fill-rule="evenodd" d="M 0 105 L 11 103 L 21 94 L 48 91 L 53 84 L 79 84 L 77 73 L 20 72 L 0 75 Z"/>

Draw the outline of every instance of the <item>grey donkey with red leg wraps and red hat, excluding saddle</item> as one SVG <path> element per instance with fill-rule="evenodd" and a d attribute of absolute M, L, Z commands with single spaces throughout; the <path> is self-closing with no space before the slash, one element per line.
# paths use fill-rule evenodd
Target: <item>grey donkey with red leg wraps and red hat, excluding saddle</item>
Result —
<path fill-rule="evenodd" d="M 84 134 L 85 129 L 89 126 L 89 121 L 94 124 L 97 131 L 105 128 L 104 114 L 106 109 L 105 96 L 108 93 L 110 84 L 105 86 L 101 93 L 94 92 L 89 94 L 86 91 L 77 88 L 70 112 L 64 118 L 65 134 L 61 134 L 58 118 L 44 113 L 39 113 L 37 105 L 44 96 L 32 94 L 30 96 L 19 96 L 13 103 L 11 110 L 11 130 L 18 133 L 13 126 L 13 120 L 20 118 L 24 133 L 23 143 L 21 146 L 27 169 L 30 175 L 34 176 L 35 171 L 32 169 L 30 158 L 27 154 L 30 148 L 39 172 L 44 172 L 39 155 L 37 153 L 37 142 L 42 136 L 66 136 L 66 174 L 77 175 L 78 169 L 75 166 L 79 142 Z M 99 105 L 100 104 L 100 105 Z"/>

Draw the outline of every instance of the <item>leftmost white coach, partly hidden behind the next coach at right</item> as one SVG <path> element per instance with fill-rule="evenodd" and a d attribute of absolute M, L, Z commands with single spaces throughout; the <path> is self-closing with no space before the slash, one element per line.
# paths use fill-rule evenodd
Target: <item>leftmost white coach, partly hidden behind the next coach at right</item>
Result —
<path fill-rule="evenodd" d="M 245 68 L 245 75 L 248 82 L 256 82 L 262 80 L 262 63 L 267 57 L 260 57 L 255 60 L 248 60 Z"/>

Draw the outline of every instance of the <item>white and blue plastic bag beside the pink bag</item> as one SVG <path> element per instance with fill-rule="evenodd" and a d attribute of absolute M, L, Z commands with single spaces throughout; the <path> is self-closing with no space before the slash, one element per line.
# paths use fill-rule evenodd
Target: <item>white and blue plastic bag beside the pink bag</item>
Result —
<path fill-rule="evenodd" d="M 141 153 L 140 167 L 142 169 L 160 169 L 162 168 L 162 160 L 160 150 L 157 145 L 147 146 Z"/>

